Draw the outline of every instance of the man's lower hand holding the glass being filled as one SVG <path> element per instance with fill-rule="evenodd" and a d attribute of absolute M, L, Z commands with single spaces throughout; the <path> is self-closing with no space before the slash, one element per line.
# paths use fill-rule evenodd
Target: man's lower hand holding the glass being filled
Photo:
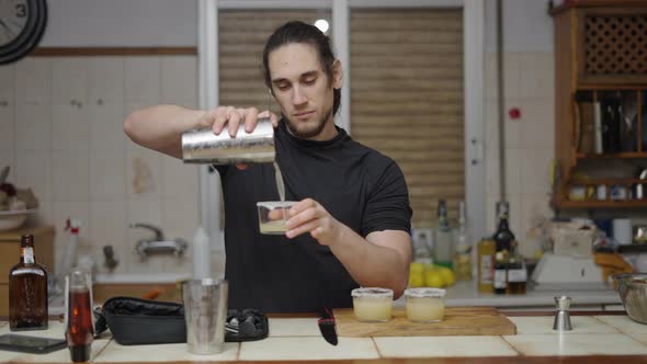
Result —
<path fill-rule="evenodd" d="M 292 206 L 286 226 L 287 238 L 310 232 L 310 236 L 322 246 L 338 241 L 343 231 L 343 225 L 313 198 L 302 200 Z"/>

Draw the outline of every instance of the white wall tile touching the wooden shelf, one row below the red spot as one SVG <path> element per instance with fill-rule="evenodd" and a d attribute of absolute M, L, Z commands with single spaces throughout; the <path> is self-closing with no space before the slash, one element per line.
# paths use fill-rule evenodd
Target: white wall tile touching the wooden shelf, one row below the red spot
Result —
<path fill-rule="evenodd" d="M 553 163 L 553 149 L 518 149 L 517 156 L 520 162 L 520 190 L 521 193 L 548 194 L 550 186 L 550 166 Z"/>

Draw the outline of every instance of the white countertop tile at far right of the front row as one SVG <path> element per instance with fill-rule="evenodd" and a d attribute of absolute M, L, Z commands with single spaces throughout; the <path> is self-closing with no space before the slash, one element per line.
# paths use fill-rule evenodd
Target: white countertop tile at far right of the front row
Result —
<path fill-rule="evenodd" d="M 518 334 L 503 337 L 523 355 L 646 355 L 647 346 L 622 333 Z"/>

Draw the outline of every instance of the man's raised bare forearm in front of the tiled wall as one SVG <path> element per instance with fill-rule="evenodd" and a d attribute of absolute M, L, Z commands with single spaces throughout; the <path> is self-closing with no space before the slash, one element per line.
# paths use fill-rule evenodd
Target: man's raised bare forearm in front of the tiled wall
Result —
<path fill-rule="evenodd" d="M 182 133 L 197 127 L 203 113 L 177 105 L 137 110 L 124 122 L 124 132 L 143 147 L 182 158 Z"/>

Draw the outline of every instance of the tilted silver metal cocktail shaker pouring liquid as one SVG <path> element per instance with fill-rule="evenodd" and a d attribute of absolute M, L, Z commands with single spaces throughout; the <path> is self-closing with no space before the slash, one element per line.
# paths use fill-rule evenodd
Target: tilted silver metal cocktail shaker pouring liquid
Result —
<path fill-rule="evenodd" d="M 252 133 L 247 133 L 241 123 L 235 138 L 226 128 L 220 135 L 215 135 L 212 129 L 182 134 L 182 160 L 185 163 L 271 163 L 274 156 L 274 127 L 270 118 L 260 118 Z"/>

